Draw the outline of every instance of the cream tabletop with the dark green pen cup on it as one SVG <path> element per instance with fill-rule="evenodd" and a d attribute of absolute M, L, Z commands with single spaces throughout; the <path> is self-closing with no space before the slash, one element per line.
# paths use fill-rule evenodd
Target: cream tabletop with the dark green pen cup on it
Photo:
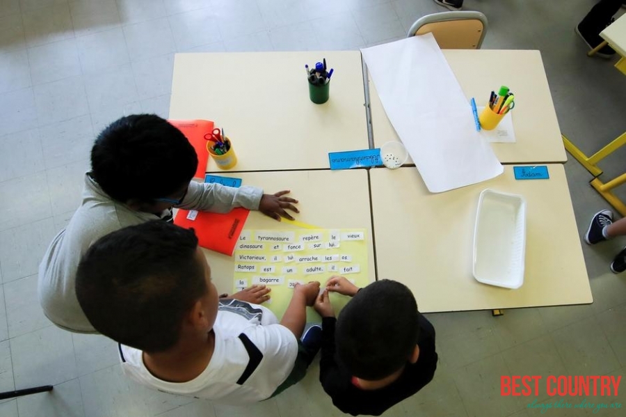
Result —
<path fill-rule="evenodd" d="M 322 58 L 335 72 L 330 100 L 314 104 L 305 64 Z M 169 117 L 223 127 L 231 171 L 328 168 L 328 152 L 369 148 L 358 51 L 176 54 Z M 220 169 L 209 159 L 207 171 Z"/>

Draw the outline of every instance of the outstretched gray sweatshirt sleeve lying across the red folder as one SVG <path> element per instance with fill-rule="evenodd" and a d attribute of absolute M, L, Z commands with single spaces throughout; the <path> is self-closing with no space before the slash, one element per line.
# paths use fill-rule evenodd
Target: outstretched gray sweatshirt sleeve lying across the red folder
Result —
<path fill-rule="evenodd" d="M 235 207 L 259 210 L 262 196 L 262 189 L 249 185 L 234 188 L 216 183 L 191 181 L 182 204 L 177 208 L 217 213 L 227 213 Z"/>

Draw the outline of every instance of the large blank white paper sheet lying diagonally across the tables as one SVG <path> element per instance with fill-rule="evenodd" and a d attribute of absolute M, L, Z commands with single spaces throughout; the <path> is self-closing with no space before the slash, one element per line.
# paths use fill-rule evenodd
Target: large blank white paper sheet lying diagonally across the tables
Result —
<path fill-rule="evenodd" d="M 504 171 L 476 132 L 470 104 L 432 34 L 361 52 L 387 117 L 428 191 L 464 187 Z"/>

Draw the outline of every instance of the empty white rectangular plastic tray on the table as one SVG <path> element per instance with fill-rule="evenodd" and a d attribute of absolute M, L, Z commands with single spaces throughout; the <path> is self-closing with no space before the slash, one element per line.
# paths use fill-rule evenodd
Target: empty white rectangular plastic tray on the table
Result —
<path fill-rule="evenodd" d="M 504 288 L 524 283 L 526 200 L 516 194 L 485 189 L 474 227 L 474 278 Z"/>

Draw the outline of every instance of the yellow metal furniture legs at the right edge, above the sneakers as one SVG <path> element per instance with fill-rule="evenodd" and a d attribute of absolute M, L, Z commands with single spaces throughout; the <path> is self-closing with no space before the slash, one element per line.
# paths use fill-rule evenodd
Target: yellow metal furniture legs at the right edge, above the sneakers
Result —
<path fill-rule="evenodd" d="M 565 149 L 570 152 L 572 157 L 574 157 L 584 168 L 591 173 L 595 178 L 591 181 L 591 187 L 595 189 L 604 200 L 607 200 L 609 204 L 611 204 L 622 216 L 626 217 L 626 205 L 622 203 L 622 201 L 617 198 L 615 194 L 611 191 L 613 188 L 620 186 L 626 182 L 626 173 L 619 175 L 613 180 L 610 180 L 607 183 L 604 183 L 597 178 L 600 174 L 602 174 L 602 169 L 597 166 L 597 163 L 600 162 L 605 157 L 611 155 L 612 152 L 618 150 L 623 145 L 626 145 L 626 132 L 620 134 L 617 139 L 611 141 L 608 145 L 604 146 L 604 148 L 595 152 L 595 154 L 588 157 L 585 155 L 579 148 L 574 145 L 574 143 L 570 142 L 568 138 L 561 135 L 563 138 L 563 145 L 565 145 Z"/>

